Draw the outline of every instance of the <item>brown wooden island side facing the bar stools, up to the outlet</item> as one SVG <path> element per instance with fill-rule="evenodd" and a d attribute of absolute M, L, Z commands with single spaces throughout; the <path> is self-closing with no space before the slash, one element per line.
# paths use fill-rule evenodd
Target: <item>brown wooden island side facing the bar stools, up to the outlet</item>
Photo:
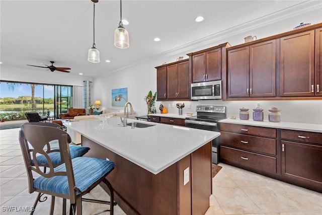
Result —
<path fill-rule="evenodd" d="M 91 148 L 86 156 L 115 162 L 107 179 L 126 214 L 191 214 L 191 186 L 183 186 L 179 177 L 181 170 L 190 168 L 190 155 L 154 175 L 84 136 L 82 145 Z"/>

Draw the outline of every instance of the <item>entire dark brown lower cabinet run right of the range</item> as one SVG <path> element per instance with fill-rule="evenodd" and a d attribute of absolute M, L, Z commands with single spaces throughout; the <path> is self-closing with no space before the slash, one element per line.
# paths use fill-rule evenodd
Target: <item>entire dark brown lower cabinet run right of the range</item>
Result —
<path fill-rule="evenodd" d="M 220 162 L 322 193 L 322 133 L 220 123 Z"/>

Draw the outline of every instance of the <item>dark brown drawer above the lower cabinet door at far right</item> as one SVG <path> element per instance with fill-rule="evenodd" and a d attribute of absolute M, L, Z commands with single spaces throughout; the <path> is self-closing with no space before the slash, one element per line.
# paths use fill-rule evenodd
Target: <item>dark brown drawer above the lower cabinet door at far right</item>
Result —
<path fill-rule="evenodd" d="M 281 138 L 302 142 L 311 142 L 314 144 L 322 144 L 322 133 L 299 130 L 281 130 Z"/>

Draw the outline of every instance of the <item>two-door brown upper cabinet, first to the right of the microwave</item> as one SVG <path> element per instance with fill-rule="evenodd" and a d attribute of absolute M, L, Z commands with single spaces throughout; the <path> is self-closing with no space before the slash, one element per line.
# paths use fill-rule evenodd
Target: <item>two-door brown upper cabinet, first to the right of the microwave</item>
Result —
<path fill-rule="evenodd" d="M 228 50 L 228 97 L 276 96 L 276 40 Z"/>

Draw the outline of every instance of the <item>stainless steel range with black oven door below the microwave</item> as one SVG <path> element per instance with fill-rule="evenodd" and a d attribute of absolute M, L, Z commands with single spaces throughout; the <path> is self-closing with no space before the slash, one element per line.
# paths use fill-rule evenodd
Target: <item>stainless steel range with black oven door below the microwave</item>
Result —
<path fill-rule="evenodd" d="M 186 127 L 219 132 L 218 120 L 226 118 L 225 106 L 197 106 L 197 116 L 186 117 Z M 212 163 L 219 162 L 220 136 L 212 140 Z"/>

